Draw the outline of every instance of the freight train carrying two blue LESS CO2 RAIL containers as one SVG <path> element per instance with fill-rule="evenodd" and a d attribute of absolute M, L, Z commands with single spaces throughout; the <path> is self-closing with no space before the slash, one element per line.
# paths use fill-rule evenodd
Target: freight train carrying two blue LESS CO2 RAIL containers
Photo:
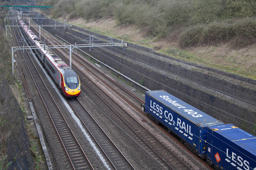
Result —
<path fill-rule="evenodd" d="M 256 137 L 163 90 L 145 94 L 144 111 L 215 169 L 256 170 Z"/>

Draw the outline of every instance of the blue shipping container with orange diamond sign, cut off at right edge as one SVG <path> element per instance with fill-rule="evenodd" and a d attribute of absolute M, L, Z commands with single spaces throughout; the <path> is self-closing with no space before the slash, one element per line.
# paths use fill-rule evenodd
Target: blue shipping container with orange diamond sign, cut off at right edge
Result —
<path fill-rule="evenodd" d="M 256 137 L 233 124 L 208 129 L 207 157 L 224 170 L 256 170 Z"/>

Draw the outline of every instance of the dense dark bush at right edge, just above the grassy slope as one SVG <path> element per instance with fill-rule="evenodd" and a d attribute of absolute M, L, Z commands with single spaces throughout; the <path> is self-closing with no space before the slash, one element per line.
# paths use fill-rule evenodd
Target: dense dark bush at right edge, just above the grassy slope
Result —
<path fill-rule="evenodd" d="M 196 25 L 180 34 L 179 46 L 215 45 L 231 41 L 233 47 L 244 47 L 256 42 L 256 18 L 241 19 L 237 22 Z"/>

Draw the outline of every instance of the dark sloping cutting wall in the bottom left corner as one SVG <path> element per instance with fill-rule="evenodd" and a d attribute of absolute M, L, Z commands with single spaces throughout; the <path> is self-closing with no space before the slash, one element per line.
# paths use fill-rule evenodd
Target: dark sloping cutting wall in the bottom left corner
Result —
<path fill-rule="evenodd" d="M 30 152 L 30 141 L 24 125 L 24 115 L 17 100 L 15 99 L 9 83 L 6 80 L 0 80 L 0 109 L 1 109 L 1 127 L 0 135 L 8 139 L 1 141 L 0 147 L 3 152 L 1 155 L 7 156 L 0 165 L 1 169 L 34 169 L 35 163 Z M 6 122 L 5 122 L 6 121 Z M 1 129 L 4 128 L 4 129 Z M 6 152 L 4 145 L 7 148 Z M 1 160 L 3 161 L 3 160 Z"/>

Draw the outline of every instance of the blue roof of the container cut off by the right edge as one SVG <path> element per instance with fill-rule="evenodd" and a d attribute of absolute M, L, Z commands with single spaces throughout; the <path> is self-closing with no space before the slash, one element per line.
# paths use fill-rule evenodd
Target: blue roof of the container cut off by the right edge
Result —
<path fill-rule="evenodd" d="M 244 148 L 246 151 L 256 155 L 256 137 L 233 124 L 223 124 L 209 127 L 214 133 L 217 133 L 236 145 Z M 213 133 L 213 134 L 214 134 Z M 227 141 L 223 141 L 229 143 Z"/>

